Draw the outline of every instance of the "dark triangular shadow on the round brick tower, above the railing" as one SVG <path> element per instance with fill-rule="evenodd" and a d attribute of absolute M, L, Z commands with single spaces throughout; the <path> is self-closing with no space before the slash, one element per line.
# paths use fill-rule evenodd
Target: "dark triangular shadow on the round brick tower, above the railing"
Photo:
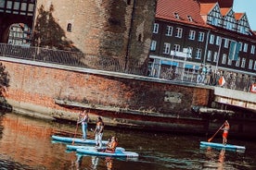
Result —
<path fill-rule="evenodd" d="M 49 49 L 81 52 L 73 46 L 73 42 L 67 40 L 65 31 L 58 25 L 52 13 L 54 6 L 51 5 L 49 11 L 45 11 L 44 6 L 38 9 L 33 33 L 33 46 L 46 47 Z"/>

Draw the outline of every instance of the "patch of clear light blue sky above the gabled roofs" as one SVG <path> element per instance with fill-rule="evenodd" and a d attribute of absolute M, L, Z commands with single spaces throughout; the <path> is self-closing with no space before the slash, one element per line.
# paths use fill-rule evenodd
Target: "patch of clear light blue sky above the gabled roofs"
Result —
<path fill-rule="evenodd" d="M 236 13 L 246 13 L 250 29 L 256 30 L 256 0 L 234 0 L 233 10 Z"/>

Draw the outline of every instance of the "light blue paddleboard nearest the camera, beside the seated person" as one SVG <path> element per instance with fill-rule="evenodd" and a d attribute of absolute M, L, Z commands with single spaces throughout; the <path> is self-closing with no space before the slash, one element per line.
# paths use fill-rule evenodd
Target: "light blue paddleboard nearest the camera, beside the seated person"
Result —
<path fill-rule="evenodd" d="M 138 157 L 138 153 L 136 152 L 124 152 L 124 151 L 120 151 L 120 150 L 116 150 L 116 152 L 101 152 L 101 151 L 97 151 L 96 148 L 95 149 L 77 149 L 76 152 L 79 153 L 83 153 L 83 154 L 90 154 L 90 155 L 96 155 L 96 156 L 111 156 L 111 157 Z"/>

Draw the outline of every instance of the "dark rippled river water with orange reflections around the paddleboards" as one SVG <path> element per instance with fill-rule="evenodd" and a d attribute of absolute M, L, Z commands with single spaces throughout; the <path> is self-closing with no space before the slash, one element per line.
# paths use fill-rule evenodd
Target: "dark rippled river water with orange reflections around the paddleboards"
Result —
<path fill-rule="evenodd" d="M 95 128 L 95 125 L 89 128 Z M 77 136 L 81 133 L 80 127 L 78 129 Z M 120 147 L 140 155 L 137 159 L 117 159 L 68 152 L 66 143 L 51 139 L 54 134 L 73 137 L 74 131 L 75 125 L 67 122 L 0 114 L 0 170 L 256 169 L 255 141 L 229 137 L 229 143 L 247 148 L 245 152 L 233 152 L 200 148 L 199 142 L 209 137 L 106 127 L 104 140 L 116 135 Z M 88 138 L 92 135 L 88 132 Z M 221 134 L 218 134 L 212 141 L 221 140 Z"/>

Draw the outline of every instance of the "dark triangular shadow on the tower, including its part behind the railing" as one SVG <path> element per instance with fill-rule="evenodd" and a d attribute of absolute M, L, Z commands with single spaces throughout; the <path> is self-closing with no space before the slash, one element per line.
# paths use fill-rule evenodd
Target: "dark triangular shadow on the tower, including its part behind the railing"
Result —
<path fill-rule="evenodd" d="M 66 65 L 67 62 L 71 62 L 74 63 L 75 66 L 86 67 L 87 64 L 83 62 L 85 55 L 74 46 L 72 41 L 68 40 L 65 30 L 58 25 L 53 17 L 53 12 L 53 5 L 50 6 L 49 11 L 45 11 L 45 6 L 40 6 L 38 9 L 32 45 L 54 51 L 54 53 L 49 53 L 47 50 L 37 51 L 38 58 L 44 58 L 44 61 L 53 63 Z M 58 54 L 56 50 L 64 50 L 65 52 L 63 51 L 63 54 L 59 52 L 61 54 Z M 67 51 L 70 53 L 67 53 Z M 59 56 L 61 56 L 61 58 L 59 58 Z"/>

